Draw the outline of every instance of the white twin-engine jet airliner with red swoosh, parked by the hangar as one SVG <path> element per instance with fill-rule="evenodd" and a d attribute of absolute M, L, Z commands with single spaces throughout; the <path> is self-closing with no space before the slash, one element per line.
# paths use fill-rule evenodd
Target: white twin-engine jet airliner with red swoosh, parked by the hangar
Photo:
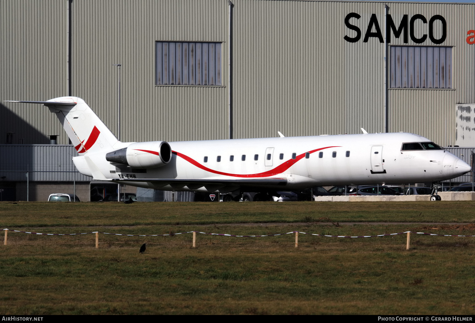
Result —
<path fill-rule="evenodd" d="M 439 182 L 471 170 L 411 133 L 121 142 L 80 98 L 8 102 L 41 103 L 56 113 L 82 174 L 138 187 L 221 193 L 229 200 L 242 192 Z"/>

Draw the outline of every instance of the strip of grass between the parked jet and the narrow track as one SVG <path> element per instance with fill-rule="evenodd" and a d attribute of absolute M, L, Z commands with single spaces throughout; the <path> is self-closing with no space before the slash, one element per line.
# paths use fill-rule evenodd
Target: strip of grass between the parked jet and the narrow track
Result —
<path fill-rule="evenodd" d="M 4 227 L 248 222 L 475 222 L 475 201 L 299 203 L 0 202 Z"/>

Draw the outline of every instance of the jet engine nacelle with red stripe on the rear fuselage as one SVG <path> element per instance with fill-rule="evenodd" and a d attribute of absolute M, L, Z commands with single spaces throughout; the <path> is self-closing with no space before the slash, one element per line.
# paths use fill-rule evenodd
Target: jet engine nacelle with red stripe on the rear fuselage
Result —
<path fill-rule="evenodd" d="M 136 142 L 127 148 L 107 153 L 105 159 L 133 168 L 160 167 L 170 162 L 171 147 L 165 141 Z"/>

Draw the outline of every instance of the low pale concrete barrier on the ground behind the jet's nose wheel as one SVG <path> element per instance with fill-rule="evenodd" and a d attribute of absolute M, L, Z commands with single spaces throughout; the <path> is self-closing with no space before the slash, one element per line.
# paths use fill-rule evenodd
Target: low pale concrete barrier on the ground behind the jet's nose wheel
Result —
<path fill-rule="evenodd" d="M 316 202 L 404 202 L 430 201 L 431 195 L 336 195 L 316 196 Z M 442 201 L 475 201 L 475 192 L 440 192 Z"/>

